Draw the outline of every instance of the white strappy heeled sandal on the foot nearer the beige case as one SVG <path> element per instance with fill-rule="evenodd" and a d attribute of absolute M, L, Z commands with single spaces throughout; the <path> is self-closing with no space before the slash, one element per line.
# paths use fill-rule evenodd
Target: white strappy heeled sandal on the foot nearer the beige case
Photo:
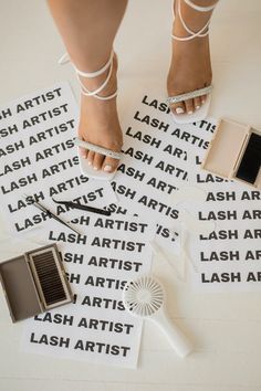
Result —
<path fill-rule="evenodd" d="M 186 22 L 185 22 L 185 20 L 182 18 L 181 8 L 180 8 L 180 1 L 181 0 L 176 0 L 176 1 L 178 1 L 178 6 L 177 6 L 178 18 L 180 19 L 180 22 L 181 22 L 184 29 L 187 31 L 188 35 L 187 36 L 177 36 L 177 35 L 171 34 L 171 38 L 174 40 L 177 40 L 177 41 L 189 41 L 189 40 L 192 40 L 192 39 L 195 39 L 197 36 L 198 38 L 202 38 L 202 36 L 208 35 L 210 18 L 209 18 L 208 22 L 199 31 L 197 31 L 197 32 L 192 31 L 191 29 L 188 28 L 188 25 L 186 24 Z M 215 9 L 215 7 L 217 6 L 219 0 L 217 0 L 217 2 L 215 4 L 209 6 L 209 7 L 197 6 L 191 0 L 182 0 L 182 1 L 187 6 L 192 8 L 195 11 L 209 12 L 209 11 L 212 11 Z M 207 95 L 206 102 L 200 106 L 199 109 L 195 110 L 192 114 L 186 114 L 186 113 L 185 114 L 175 114 L 175 113 L 171 112 L 175 121 L 177 124 L 190 124 L 190 123 L 195 123 L 197 120 L 205 119 L 207 117 L 207 115 L 208 115 L 212 88 L 213 88 L 213 86 L 209 85 L 209 86 L 203 87 L 203 88 L 190 91 L 190 92 L 188 92 L 186 94 L 168 96 L 167 103 L 168 103 L 169 106 L 171 106 L 171 104 L 175 104 L 175 103 L 178 103 L 178 102 L 191 99 L 191 98 L 195 98 L 195 97 L 198 97 L 198 96 L 201 96 L 201 95 Z"/>

